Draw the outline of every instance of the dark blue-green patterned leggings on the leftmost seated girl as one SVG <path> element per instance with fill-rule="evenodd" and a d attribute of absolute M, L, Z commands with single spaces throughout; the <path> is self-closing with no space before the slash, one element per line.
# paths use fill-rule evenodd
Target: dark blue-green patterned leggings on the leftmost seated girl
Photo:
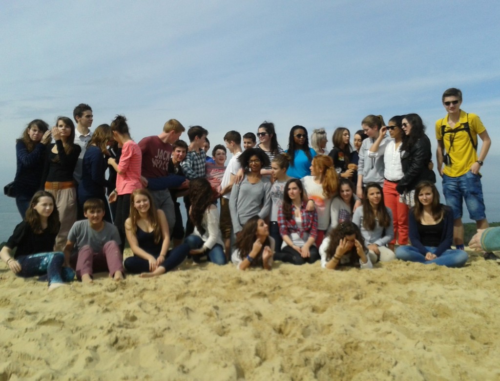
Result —
<path fill-rule="evenodd" d="M 71 268 L 62 267 L 64 254 L 60 251 L 19 255 L 15 260 L 21 265 L 21 270 L 17 275 L 22 277 L 46 274 L 49 285 L 68 282 L 74 278 L 74 271 Z"/>

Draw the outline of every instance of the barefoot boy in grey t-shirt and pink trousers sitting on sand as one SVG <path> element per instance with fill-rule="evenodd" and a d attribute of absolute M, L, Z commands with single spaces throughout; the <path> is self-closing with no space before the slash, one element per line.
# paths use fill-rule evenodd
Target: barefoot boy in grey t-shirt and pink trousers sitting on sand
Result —
<path fill-rule="evenodd" d="M 76 221 L 67 237 L 64 255 L 76 262 L 76 276 L 82 282 L 91 283 L 92 273 L 109 271 L 115 280 L 123 279 L 123 255 L 116 226 L 102 219 L 104 202 L 90 198 L 83 204 L 86 219 Z"/>

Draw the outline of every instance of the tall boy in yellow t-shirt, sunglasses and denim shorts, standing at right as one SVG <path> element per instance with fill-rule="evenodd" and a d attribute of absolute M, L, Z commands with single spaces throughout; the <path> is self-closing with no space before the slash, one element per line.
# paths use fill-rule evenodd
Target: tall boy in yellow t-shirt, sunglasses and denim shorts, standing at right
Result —
<path fill-rule="evenodd" d="M 460 109 L 462 92 L 459 89 L 452 87 L 444 91 L 442 104 L 447 114 L 435 124 L 437 170 L 442 176 L 446 204 L 453 209 L 454 243 L 457 249 L 463 250 L 462 199 L 477 228 L 488 227 L 479 169 L 491 140 L 479 116 Z M 477 136 L 482 140 L 479 156 Z"/>

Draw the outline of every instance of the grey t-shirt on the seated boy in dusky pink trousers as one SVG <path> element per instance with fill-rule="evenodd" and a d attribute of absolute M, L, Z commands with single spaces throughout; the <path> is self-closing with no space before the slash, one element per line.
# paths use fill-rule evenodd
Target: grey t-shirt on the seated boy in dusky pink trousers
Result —
<path fill-rule="evenodd" d="M 89 245 L 94 252 L 100 252 L 106 242 L 115 241 L 118 244 L 121 243 L 116 226 L 104 221 L 102 230 L 96 231 L 90 227 L 87 219 L 76 221 L 71 226 L 67 240 L 74 242 L 73 253 L 78 253 L 78 250 L 85 245 Z"/>

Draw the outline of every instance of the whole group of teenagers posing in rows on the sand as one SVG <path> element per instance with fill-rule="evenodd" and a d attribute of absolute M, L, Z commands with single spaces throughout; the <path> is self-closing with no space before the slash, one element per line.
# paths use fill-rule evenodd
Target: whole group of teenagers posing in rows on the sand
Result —
<path fill-rule="evenodd" d="M 199 125 L 187 130 L 189 143 L 176 119 L 136 143 L 122 115 L 90 131 L 92 110 L 79 104 L 76 127 L 62 116 L 52 128 L 35 119 L 17 139 L 14 194 L 23 220 L 0 257 L 17 275 L 46 276 L 50 288 L 75 275 L 91 282 L 97 271 L 116 280 L 125 270 L 155 276 L 188 256 L 239 269 L 270 269 L 273 260 L 371 268 L 395 258 L 462 266 L 462 199 L 478 229 L 488 226 L 479 169 L 490 139 L 461 101 L 460 90 L 447 89 L 447 114 L 435 125 L 447 205 L 415 113 L 387 125 L 366 116 L 353 147 L 349 130 L 338 127 L 329 152 L 324 129 L 312 131 L 309 145 L 301 125 L 283 151 L 267 121 L 256 135 L 228 131 L 209 152 Z M 123 261 L 125 240 L 133 255 Z"/>

